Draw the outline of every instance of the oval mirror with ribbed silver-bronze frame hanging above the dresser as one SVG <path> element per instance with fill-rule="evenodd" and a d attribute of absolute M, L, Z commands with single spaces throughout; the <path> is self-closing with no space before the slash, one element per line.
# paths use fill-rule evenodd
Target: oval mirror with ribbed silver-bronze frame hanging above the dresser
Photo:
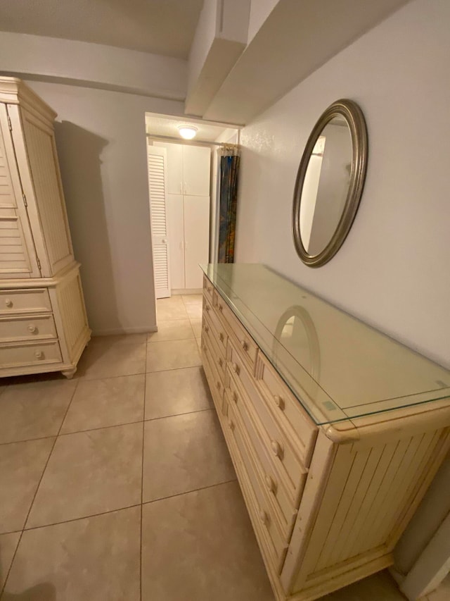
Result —
<path fill-rule="evenodd" d="M 300 259 L 319 267 L 338 252 L 358 210 L 367 165 L 367 130 L 352 100 L 326 109 L 300 161 L 293 203 L 294 244 Z"/>

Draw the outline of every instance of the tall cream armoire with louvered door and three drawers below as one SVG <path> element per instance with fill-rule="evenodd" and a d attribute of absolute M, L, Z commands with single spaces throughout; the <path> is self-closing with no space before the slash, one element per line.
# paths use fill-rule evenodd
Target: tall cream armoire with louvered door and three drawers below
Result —
<path fill-rule="evenodd" d="M 62 371 L 91 336 L 53 132 L 56 113 L 0 78 L 0 376 Z"/>

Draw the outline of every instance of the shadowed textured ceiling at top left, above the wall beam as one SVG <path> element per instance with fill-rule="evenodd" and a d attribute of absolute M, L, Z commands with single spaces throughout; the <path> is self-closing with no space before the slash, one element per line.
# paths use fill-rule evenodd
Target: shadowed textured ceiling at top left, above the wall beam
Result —
<path fill-rule="evenodd" d="M 203 0 L 1 0 L 0 30 L 188 58 Z"/>

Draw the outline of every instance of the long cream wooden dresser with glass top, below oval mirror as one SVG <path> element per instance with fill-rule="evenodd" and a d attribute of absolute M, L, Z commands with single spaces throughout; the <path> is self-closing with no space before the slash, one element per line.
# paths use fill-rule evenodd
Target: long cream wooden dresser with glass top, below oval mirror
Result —
<path fill-rule="evenodd" d="M 261 265 L 205 266 L 203 366 L 278 600 L 393 563 L 450 447 L 450 373 Z"/>

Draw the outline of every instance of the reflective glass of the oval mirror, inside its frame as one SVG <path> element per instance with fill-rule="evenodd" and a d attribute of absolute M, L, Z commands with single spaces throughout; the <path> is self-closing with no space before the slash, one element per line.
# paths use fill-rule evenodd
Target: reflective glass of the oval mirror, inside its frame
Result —
<path fill-rule="evenodd" d="M 323 251 L 345 209 L 352 171 L 352 133 L 342 116 L 331 119 L 311 152 L 300 199 L 300 236 L 306 252 Z"/>

